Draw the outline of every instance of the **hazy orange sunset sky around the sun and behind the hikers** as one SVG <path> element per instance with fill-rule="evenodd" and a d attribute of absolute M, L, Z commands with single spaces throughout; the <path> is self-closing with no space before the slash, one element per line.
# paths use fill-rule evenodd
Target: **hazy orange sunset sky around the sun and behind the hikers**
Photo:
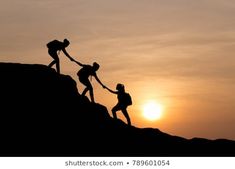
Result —
<path fill-rule="evenodd" d="M 235 140 L 234 16 L 230 0 L 3 0 L 0 61 L 49 64 L 46 43 L 68 38 L 74 58 L 100 63 L 103 83 L 126 85 L 134 125 Z M 60 58 L 77 80 L 79 67 Z M 110 111 L 116 96 L 93 84 Z M 147 100 L 163 105 L 162 119 L 143 118 Z"/>

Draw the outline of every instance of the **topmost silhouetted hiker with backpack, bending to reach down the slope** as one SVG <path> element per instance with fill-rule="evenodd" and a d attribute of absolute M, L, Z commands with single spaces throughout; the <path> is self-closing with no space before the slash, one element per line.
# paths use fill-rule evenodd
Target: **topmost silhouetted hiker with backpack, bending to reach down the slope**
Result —
<path fill-rule="evenodd" d="M 58 54 L 61 50 L 71 61 L 75 61 L 65 50 L 65 48 L 68 47 L 69 44 L 70 42 L 67 39 L 64 39 L 63 42 L 60 42 L 58 40 L 53 40 L 47 44 L 48 53 L 54 59 L 48 66 L 52 67 L 54 64 L 56 64 L 56 70 L 59 74 L 60 74 L 60 60 Z"/>

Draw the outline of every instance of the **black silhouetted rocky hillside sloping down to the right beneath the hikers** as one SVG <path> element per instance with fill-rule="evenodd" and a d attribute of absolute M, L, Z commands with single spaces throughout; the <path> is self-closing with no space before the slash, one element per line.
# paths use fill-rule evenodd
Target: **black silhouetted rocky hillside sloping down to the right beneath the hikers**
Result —
<path fill-rule="evenodd" d="M 0 156 L 235 156 L 235 141 L 128 126 L 39 64 L 0 63 Z"/>

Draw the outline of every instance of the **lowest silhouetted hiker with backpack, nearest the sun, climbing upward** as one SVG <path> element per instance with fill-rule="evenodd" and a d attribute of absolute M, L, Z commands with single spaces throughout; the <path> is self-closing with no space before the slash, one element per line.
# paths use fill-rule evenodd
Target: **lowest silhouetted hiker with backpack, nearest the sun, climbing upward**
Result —
<path fill-rule="evenodd" d="M 116 106 L 114 106 L 112 108 L 112 113 L 113 113 L 114 119 L 117 119 L 116 112 L 118 110 L 121 110 L 127 119 L 128 125 L 131 125 L 131 119 L 128 115 L 127 107 L 129 105 L 132 105 L 132 100 L 131 100 L 131 96 L 125 92 L 125 86 L 123 84 L 118 83 L 116 86 L 117 91 L 113 91 L 113 90 L 107 88 L 106 86 L 105 86 L 105 88 L 108 89 L 111 93 L 117 94 L 118 103 L 116 104 Z"/>

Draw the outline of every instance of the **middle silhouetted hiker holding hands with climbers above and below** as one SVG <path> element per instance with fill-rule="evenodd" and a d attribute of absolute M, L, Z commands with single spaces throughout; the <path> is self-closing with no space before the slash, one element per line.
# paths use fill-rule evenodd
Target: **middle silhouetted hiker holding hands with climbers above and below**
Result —
<path fill-rule="evenodd" d="M 101 81 L 99 80 L 96 71 L 99 69 L 100 65 L 96 62 L 93 63 L 93 65 L 84 65 L 81 64 L 78 61 L 75 61 L 79 66 L 82 66 L 82 68 L 78 71 L 77 75 L 78 75 L 78 79 L 79 81 L 84 84 L 86 86 L 86 88 L 84 89 L 84 91 L 82 92 L 82 96 L 86 95 L 86 92 L 89 91 L 90 92 L 90 97 L 91 97 L 91 102 L 95 102 L 94 100 L 94 93 L 93 93 L 93 87 L 91 85 L 91 82 L 89 81 L 89 76 L 94 76 L 95 79 L 97 80 L 97 82 L 99 82 L 99 84 L 105 88 L 105 86 L 101 83 Z"/>

